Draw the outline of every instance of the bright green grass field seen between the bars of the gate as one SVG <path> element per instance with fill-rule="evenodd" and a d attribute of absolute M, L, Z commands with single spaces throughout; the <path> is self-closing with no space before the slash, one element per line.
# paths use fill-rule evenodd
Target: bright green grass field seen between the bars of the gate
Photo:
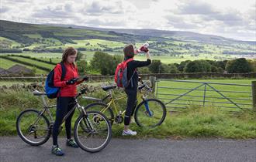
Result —
<path fill-rule="evenodd" d="M 212 82 L 212 83 L 237 83 L 237 84 L 246 84 L 251 85 L 251 81 L 255 79 L 197 79 L 196 82 Z M 182 95 L 189 91 L 189 89 L 195 88 L 196 86 L 201 85 L 202 83 L 184 83 L 184 82 L 171 82 L 168 80 L 160 80 L 158 83 L 159 88 L 157 89 L 157 96 L 161 98 L 163 102 L 169 102 L 172 99 L 175 99 L 178 96 L 171 96 L 173 95 Z M 215 89 L 220 90 L 220 93 L 223 93 L 224 96 L 230 98 L 235 103 L 244 103 L 249 105 L 242 105 L 239 104 L 241 108 L 252 108 L 252 101 L 249 99 L 251 98 L 251 86 L 227 86 L 227 85 L 217 85 L 217 84 L 209 84 L 213 86 Z M 161 88 L 162 87 L 162 88 Z M 166 88 L 167 87 L 167 88 Z M 168 89 L 168 88 L 186 88 L 186 89 Z M 204 93 L 204 86 L 201 86 L 199 90 L 194 90 L 191 93 L 188 93 L 187 96 L 182 96 L 178 100 L 168 104 L 168 106 L 186 106 L 186 105 L 202 105 L 203 101 L 203 93 Z M 206 107 L 219 107 L 221 110 L 229 110 L 229 111 L 240 111 L 239 108 L 227 108 L 225 106 L 236 107 L 233 103 L 230 103 L 229 100 L 224 99 L 219 93 L 216 93 L 211 89 L 209 86 L 206 86 Z M 245 93 L 230 93 L 230 92 L 221 92 L 221 91 L 238 91 L 238 92 L 245 92 Z M 169 95 L 168 95 L 169 94 Z M 195 97 L 199 96 L 199 97 Z M 210 97 L 220 97 L 210 98 Z M 238 99 L 237 99 L 238 98 Z M 244 99 L 244 100 L 239 100 Z M 198 101 L 189 101 L 189 100 L 199 100 Z M 220 102 L 220 103 L 210 103 L 210 102 Z M 177 103 L 177 104 L 175 104 Z M 185 103 L 181 105 L 179 103 Z M 180 110 L 175 108 L 170 108 L 171 110 Z"/>

